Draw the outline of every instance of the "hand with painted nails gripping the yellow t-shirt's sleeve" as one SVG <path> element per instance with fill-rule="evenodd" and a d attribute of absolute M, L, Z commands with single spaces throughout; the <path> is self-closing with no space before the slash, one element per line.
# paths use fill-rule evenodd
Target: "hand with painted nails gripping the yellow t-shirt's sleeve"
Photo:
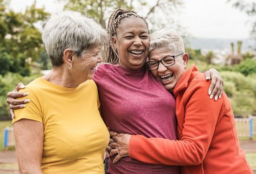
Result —
<path fill-rule="evenodd" d="M 20 82 L 13 91 L 7 93 L 7 103 L 9 104 L 12 118 L 15 118 L 13 110 L 26 107 L 26 103 L 30 102 L 29 99 L 17 100 L 17 98 L 29 95 L 29 93 L 26 92 L 19 92 L 19 90 L 23 88 L 25 88 L 25 85 Z"/>

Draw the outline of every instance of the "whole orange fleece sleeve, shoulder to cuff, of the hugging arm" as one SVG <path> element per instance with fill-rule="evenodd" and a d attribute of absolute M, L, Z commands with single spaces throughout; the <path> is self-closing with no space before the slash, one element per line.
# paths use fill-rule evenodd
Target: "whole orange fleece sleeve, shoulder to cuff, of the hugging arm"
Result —
<path fill-rule="evenodd" d="M 209 99 L 207 94 L 209 82 L 206 80 L 195 82 L 191 83 L 190 88 L 184 93 L 182 103 L 176 103 L 185 109 L 181 140 L 132 135 L 128 147 L 129 157 L 152 164 L 198 165 L 202 163 L 209 149 L 219 114 L 222 112 L 223 100 Z M 176 116 L 179 120 L 179 115 Z"/>

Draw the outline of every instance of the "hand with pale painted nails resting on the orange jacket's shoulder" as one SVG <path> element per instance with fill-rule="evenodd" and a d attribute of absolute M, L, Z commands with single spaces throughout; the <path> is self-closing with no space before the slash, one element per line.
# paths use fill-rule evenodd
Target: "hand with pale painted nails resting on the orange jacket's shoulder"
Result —
<path fill-rule="evenodd" d="M 220 99 L 222 97 L 223 93 L 223 80 L 219 74 L 219 72 L 211 68 L 209 71 L 205 72 L 205 80 L 211 80 L 211 84 L 208 90 L 208 94 L 210 96 L 210 99 L 217 100 L 218 98 Z"/>

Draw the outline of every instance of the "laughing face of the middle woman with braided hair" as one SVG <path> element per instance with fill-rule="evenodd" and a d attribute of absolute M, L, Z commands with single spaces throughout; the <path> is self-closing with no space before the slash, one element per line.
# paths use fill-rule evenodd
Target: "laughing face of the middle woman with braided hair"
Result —
<path fill-rule="evenodd" d="M 130 16 L 121 20 L 113 36 L 113 44 L 117 50 L 122 67 L 141 69 L 148 57 L 148 26 L 141 18 Z"/>

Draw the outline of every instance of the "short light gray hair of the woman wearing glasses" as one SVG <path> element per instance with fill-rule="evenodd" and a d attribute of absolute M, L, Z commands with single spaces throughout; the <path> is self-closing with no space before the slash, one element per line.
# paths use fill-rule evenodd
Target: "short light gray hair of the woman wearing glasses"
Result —
<path fill-rule="evenodd" d="M 149 52 L 163 47 L 168 47 L 174 54 L 185 53 L 182 37 L 168 28 L 163 28 L 150 34 Z"/>

